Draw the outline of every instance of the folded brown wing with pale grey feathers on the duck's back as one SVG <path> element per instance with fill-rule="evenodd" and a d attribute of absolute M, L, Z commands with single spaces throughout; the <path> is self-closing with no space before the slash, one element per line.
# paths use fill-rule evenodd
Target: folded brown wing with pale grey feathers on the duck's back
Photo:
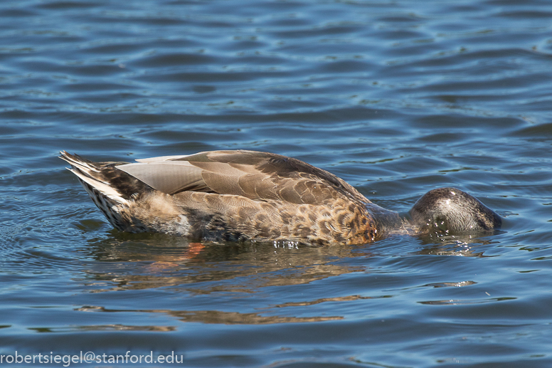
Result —
<path fill-rule="evenodd" d="M 137 161 L 116 167 L 166 194 L 204 191 L 293 204 L 368 201 L 334 174 L 280 154 L 211 151 Z"/>

